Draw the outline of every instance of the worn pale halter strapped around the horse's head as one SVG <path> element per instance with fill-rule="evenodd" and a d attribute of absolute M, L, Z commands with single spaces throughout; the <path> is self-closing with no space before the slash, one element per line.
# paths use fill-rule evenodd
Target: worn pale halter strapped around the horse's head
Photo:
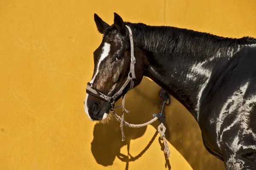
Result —
<path fill-rule="evenodd" d="M 130 42 L 131 42 L 131 66 L 130 66 L 130 71 L 129 71 L 129 74 L 128 74 L 128 77 L 127 77 L 125 83 L 122 85 L 122 87 L 119 89 L 119 91 L 117 91 L 112 97 L 103 94 L 102 92 L 100 92 L 100 90 L 98 90 L 96 88 L 93 88 L 92 83 L 90 83 L 90 82 L 87 83 L 87 88 L 86 88 L 87 94 L 95 96 L 98 99 L 101 99 L 103 101 L 110 102 L 111 109 L 113 109 L 113 105 L 115 103 L 116 98 L 122 94 L 122 92 L 124 91 L 124 89 L 126 88 L 126 86 L 128 85 L 129 82 L 131 82 L 131 86 L 128 91 L 130 91 L 132 88 L 134 88 L 134 79 L 136 79 L 135 72 L 134 72 L 134 65 L 135 65 L 136 59 L 134 57 L 133 37 L 132 37 L 131 28 L 129 26 L 126 26 L 126 27 L 129 30 L 129 37 L 130 37 Z"/>

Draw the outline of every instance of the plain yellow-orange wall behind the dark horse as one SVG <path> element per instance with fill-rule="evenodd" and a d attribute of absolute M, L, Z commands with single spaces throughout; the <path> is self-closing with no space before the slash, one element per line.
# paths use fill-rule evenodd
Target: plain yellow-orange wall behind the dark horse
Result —
<path fill-rule="evenodd" d="M 166 169 L 158 136 L 137 156 L 158 123 L 125 128 L 121 142 L 115 120 L 102 125 L 84 113 L 93 51 L 102 38 L 93 13 L 109 24 L 117 12 L 130 22 L 256 37 L 255 8 L 255 0 L 1 0 L 0 169 Z M 143 79 L 129 92 L 127 121 L 151 119 L 159 111 L 159 89 Z M 173 99 L 166 114 L 172 170 L 224 169 L 204 149 L 199 127 L 182 105 Z M 128 161 L 127 144 L 136 159 Z"/>

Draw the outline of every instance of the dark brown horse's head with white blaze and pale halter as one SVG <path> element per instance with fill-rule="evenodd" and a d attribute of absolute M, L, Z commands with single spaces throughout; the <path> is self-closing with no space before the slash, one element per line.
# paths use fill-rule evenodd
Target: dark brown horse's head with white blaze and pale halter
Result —
<path fill-rule="evenodd" d="M 87 84 L 84 110 L 90 120 L 103 120 L 113 109 L 114 102 L 140 84 L 143 57 L 139 52 L 133 56 L 140 50 L 134 48 L 131 28 L 118 14 L 114 13 L 112 26 L 97 14 L 94 14 L 94 21 L 103 38 L 93 53 L 94 71 Z"/>

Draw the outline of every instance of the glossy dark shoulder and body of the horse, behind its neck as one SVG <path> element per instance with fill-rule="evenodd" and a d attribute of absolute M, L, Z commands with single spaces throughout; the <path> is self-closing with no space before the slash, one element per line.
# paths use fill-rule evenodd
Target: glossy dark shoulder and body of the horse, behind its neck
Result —
<path fill-rule="evenodd" d="M 246 47 L 217 65 L 201 98 L 202 134 L 230 169 L 256 168 L 255 57 Z"/>

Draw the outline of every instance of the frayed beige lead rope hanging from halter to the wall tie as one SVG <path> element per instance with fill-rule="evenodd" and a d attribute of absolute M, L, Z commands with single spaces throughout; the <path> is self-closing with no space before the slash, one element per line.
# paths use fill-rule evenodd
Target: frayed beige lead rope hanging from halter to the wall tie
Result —
<path fill-rule="evenodd" d="M 166 101 L 163 102 L 163 106 L 166 104 Z M 122 107 L 122 116 L 118 116 L 116 113 L 115 113 L 115 110 L 113 109 L 111 112 L 113 113 L 113 115 L 115 116 L 116 120 L 120 122 L 120 129 L 121 129 L 121 133 L 122 133 L 122 141 L 125 141 L 125 133 L 124 133 L 124 130 L 123 130 L 123 125 L 125 126 L 128 126 L 128 127 L 134 127 L 134 128 L 139 128 L 139 127 L 144 127 L 144 126 L 147 126 L 153 122 L 155 122 L 157 119 L 159 118 L 162 118 L 163 119 L 160 119 L 160 122 L 161 124 L 157 127 L 157 130 L 158 130 L 158 133 L 160 134 L 160 139 L 163 140 L 163 144 L 164 144 L 164 150 L 163 152 L 166 153 L 166 155 L 168 156 L 168 158 L 170 157 L 170 149 L 169 149 L 169 146 L 168 146 L 168 143 L 167 143 L 167 140 L 165 138 L 165 132 L 166 132 L 166 127 L 164 125 L 164 122 L 165 122 L 165 118 L 163 116 L 163 106 L 162 106 L 162 110 L 159 114 L 153 114 L 153 119 L 151 119 L 150 121 L 146 122 L 146 123 L 143 123 L 143 124 L 138 124 L 138 125 L 135 125 L 135 124 L 131 124 L 131 123 L 128 123 L 128 122 L 125 122 L 124 120 L 124 111 L 126 113 L 129 113 L 129 111 L 127 111 L 125 109 L 125 96 L 123 96 L 122 98 L 122 105 L 119 105 L 119 106 L 116 106 L 114 109 L 116 108 L 120 108 Z"/>

